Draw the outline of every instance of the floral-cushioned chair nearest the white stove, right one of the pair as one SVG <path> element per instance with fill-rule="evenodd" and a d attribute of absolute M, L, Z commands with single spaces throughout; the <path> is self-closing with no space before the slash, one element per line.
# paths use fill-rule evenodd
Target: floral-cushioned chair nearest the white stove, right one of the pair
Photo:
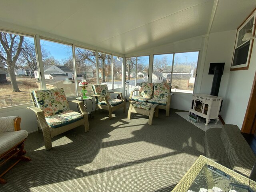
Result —
<path fill-rule="evenodd" d="M 153 98 L 148 100 L 149 103 L 158 104 L 159 109 L 166 110 L 166 116 L 169 116 L 170 113 L 171 88 L 168 83 L 155 83 Z"/>

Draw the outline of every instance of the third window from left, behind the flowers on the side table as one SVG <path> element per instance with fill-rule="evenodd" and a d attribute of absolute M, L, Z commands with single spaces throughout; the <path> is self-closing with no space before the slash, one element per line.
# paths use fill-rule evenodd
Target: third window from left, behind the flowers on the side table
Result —
<path fill-rule="evenodd" d="M 78 82 L 85 79 L 89 86 L 97 84 L 95 51 L 76 47 L 76 76 Z M 87 89 L 91 92 L 91 88 Z"/>

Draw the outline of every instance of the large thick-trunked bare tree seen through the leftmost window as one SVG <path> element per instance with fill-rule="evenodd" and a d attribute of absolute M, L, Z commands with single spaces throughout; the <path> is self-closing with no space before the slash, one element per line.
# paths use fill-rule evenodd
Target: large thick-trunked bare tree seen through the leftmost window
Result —
<path fill-rule="evenodd" d="M 24 36 L 0 32 L 0 60 L 10 75 L 12 92 L 20 92 L 14 70 L 22 50 L 23 39 Z"/>

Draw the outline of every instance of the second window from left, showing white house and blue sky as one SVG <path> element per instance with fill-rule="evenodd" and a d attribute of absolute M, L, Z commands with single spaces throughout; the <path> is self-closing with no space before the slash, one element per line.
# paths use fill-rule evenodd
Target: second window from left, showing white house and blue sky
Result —
<path fill-rule="evenodd" d="M 44 64 L 44 78 L 46 89 L 64 88 L 66 96 L 76 95 L 76 83 L 74 82 L 74 64 L 72 55 L 72 46 L 40 40 Z M 38 70 L 35 70 L 38 74 Z"/>

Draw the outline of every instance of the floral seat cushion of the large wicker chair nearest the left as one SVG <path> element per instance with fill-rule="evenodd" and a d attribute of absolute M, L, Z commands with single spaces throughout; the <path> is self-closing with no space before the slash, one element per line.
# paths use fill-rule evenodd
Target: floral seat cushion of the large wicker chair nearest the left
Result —
<path fill-rule="evenodd" d="M 46 117 L 45 120 L 50 127 L 57 128 L 80 120 L 82 118 L 84 118 L 82 114 L 69 110 L 60 114 Z"/>

